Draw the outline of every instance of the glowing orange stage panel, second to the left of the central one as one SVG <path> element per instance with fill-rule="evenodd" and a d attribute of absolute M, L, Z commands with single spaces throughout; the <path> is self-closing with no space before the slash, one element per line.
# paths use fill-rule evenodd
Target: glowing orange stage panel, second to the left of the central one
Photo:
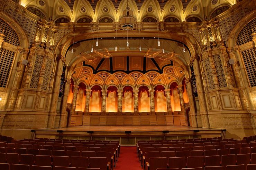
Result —
<path fill-rule="evenodd" d="M 89 112 L 101 112 L 100 92 L 92 92 L 92 97 L 90 98 Z"/>

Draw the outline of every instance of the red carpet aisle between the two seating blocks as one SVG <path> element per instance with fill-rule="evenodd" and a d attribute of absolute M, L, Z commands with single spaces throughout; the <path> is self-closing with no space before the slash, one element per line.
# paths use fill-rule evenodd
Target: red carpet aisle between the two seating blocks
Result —
<path fill-rule="evenodd" d="M 121 146 L 121 154 L 115 170 L 141 170 L 136 146 Z"/>

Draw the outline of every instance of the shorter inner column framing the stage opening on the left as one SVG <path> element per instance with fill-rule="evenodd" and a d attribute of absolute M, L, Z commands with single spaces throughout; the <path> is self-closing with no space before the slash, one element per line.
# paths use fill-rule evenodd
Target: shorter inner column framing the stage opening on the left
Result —
<path fill-rule="evenodd" d="M 71 81 L 67 78 L 65 78 L 65 85 L 64 85 L 64 94 L 62 97 L 62 107 L 61 107 L 61 113 L 60 113 L 60 124 L 59 127 L 65 127 L 66 126 L 66 118 L 67 118 L 67 96 L 69 92 L 69 85 Z"/>

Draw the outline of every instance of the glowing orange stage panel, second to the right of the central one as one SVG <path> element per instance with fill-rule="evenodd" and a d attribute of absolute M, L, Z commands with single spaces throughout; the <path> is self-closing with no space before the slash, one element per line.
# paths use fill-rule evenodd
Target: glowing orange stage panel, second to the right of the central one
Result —
<path fill-rule="evenodd" d="M 156 91 L 155 96 L 155 112 L 167 111 L 166 108 L 166 97 L 164 96 L 164 92 Z"/>

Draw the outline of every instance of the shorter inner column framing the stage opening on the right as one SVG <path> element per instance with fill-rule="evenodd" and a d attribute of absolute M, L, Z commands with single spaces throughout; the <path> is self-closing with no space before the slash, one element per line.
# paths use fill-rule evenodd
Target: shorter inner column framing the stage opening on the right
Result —
<path fill-rule="evenodd" d="M 192 89 L 192 80 L 191 78 L 187 78 L 185 80 L 187 92 L 189 96 L 189 108 L 190 108 L 190 114 L 189 114 L 189 120 L 190 120 L 190 126 L 192 127 L 198 127 L 197 121 L 196 121 L 196 112 L 195 112 L 195 102 L 194 102 L 194 96 L 193 96 L 193 89 Z"/>

